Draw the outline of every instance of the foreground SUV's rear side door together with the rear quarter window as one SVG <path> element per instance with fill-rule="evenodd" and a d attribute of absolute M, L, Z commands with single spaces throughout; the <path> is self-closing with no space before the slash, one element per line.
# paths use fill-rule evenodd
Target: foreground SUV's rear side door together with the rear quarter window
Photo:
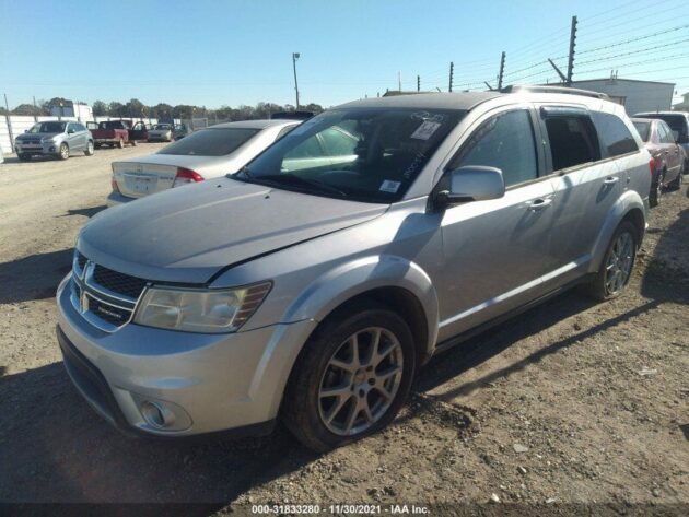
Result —
<path fill-rule="evenodd" d="M 621 157 L 638 152 L 624 122 L 577 106 L 540 107 L 551 184 L 556 191 L 547 282 L 556 287 L 587 270 L 608 213 L 626 188 Z"/>

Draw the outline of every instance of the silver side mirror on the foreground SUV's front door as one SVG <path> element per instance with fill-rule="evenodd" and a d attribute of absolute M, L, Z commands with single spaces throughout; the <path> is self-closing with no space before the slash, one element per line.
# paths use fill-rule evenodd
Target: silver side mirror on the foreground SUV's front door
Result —
<path fill-rule="evenodd" d="M 469 201 L 499 199 L 505 195 L 505 181 L 499 168 L 470 165 L 455 168 L 448 174 L 449 190 L 442 190 L 436 196 L 442 208 Z"/>

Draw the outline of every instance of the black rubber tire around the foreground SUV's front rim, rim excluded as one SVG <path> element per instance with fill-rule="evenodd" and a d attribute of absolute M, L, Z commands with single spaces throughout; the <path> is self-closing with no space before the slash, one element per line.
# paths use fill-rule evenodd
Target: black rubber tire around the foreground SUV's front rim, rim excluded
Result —
<path fill-rule="evenodd" d="M 396 391 L 394 391 L 394 395 L 390 397 L 392 402 L 386 402 L 389 406 L 381 407 L 381 414 L 377 416 L 377 420 L 365 422 L 367 427 L 359 432 L 354 432 L 350 424 L 348 428 L 351 428 L 351 434 L 336 434 L 326 426 L 326 423 L 320 416 L 324 403 L 322 402 L 323 396 L 320 395 L 320 389 L 326 381 L 326 376 L 332 375 L 332 369 L 329 369 L 332 368 L 330 361 L 337 359 L 342 348 L 349 342 L 349 338 L 352 336 L 361 336 L 361 333 L 365 334 L 367 329 L 371 328 L 382 329 L 384 332 L 389 332 L 387 336 L 393 336 L 397 339 L 397 342 L 388 341 L 388 350 L 401 351 L 401 376 L 396 376 L 393 379 L 396 383 L 394 388 Z M 361 343 L 361 341 L 358 342 Z M 373 338 L 371 342 L 373 342 Z M 393 344 L 390 345 L 390 343 Z M 361 344 L 364 345 L 364 355 L 367 355 L 366 346 L 371 346 L 371 344 L 366 345 L 365 342 Z M 397 348 L 397 345 L 399 345 L 399 348 Z M 399 357 L 399 353 L 396 356 Z M 389 356 L 386 356 L 386 359 L 387 357 Z M 365 362 L 365 357 L 363 359 Z M 370 375 L 375 376 L 381 364 L 383 364 L 383 362 L 378 363 L 376 366 L 369 366 L 365 369 L 371 372 Z M 399 366 L 393 365 L 393 369 L 398 368 Z M 338 408 L 340 409 L 332 412 L 334 416 L 340 414 L 341 411 L 346 411 L 347 414 L 353 412 L 352 422 L 355 423 L 361 415 L 359 406 L 357 406 L 358 401 L 366 400 L 366 408 L 369 415 L 371 415 L 370 395 L 374 397 L 374 404 L 378 403 L 379 400 L 385 400 L 383 397 L 375 400 L 382 391 L 376 391 L 377 388 L 375 387 L 367 388 L 365 379 L 360 378 L 355 380 L 359 372 L 361 371 L 363 373 L 363 367 L 358 369 L 357 374 L 353 372 L 351 374 L 343 373 L 346 376 L 351 375 L 349 383 L 352 393 L 343 396 L 346 402 L 339 403 Z M 282 421 L 302 444 L 315 451 L 323 453 L 346 445 L 375 433 L 393 421 L 409 395 L 414 371 L 416 351 L 413 338 L 409 327 L 399 315 L 384 305 L 373 302 L 358 304 L 357 307 L 352 306 L 348 309 L 338 310 L 316 329 L 300 353 L 285 389 L 281 411 Z M 383 373 L 378 375 L 383 375 Z M 373 384 L 371 379 L 369 379 L 369 381 Z M 363 389 L 360 390 L 359 388 L 361 386 L 370 389 L 370 391 L 366 391 L 365 396 Z M 346 389 L 350 388 L 348 387 Z M 339 402 L 339 399 L 337 402 Z M 337 402 L 334 401 L 332 406 L 336 406 Z M 353 404 L 353 407 L 348 404 Z M 364 418 L 365 414 L 366 413 L 364 413 Z M 344 416 L 344 420 L 349 420 L 349 418 Z"/>

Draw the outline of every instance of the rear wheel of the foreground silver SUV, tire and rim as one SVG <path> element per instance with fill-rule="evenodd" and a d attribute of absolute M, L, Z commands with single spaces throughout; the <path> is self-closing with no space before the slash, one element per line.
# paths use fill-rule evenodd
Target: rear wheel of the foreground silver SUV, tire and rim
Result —
<path fill-rule="evenodd" d="M 600 269 L 585 286 L 594 298 L 605 302 L 618 297 L 629 283 L 637 259 L 637 227 L 622 221 L 612 234 Z"/>

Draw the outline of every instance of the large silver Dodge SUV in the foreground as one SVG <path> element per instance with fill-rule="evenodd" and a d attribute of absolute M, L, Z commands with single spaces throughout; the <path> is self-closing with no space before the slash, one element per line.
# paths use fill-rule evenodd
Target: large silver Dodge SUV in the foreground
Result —
<path fill-rule="evenodd" d="M 434 354 L 586 283 L 620 294 L 650 155 L 567 90 L 344 104 L 227 177 L 95 216 L 58 289 L 65 365 L 126 431 L 388 424 Z"/>

